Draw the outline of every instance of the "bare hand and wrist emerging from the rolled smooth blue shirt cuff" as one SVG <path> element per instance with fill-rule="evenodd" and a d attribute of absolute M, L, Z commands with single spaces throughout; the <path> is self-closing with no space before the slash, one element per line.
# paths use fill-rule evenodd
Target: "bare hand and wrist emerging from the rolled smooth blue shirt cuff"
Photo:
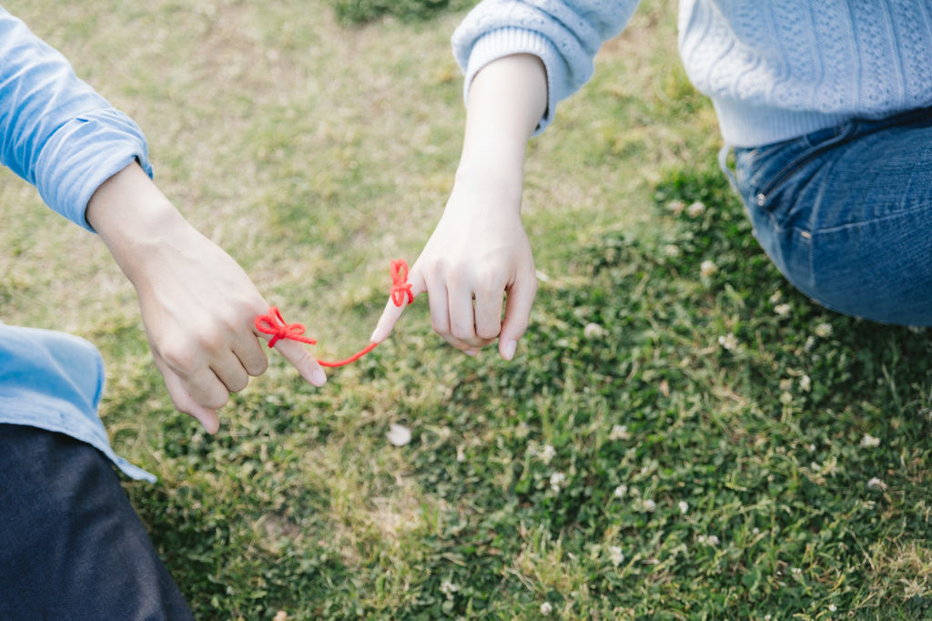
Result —
<path fill-rule="evenodd" d="M 217 410 L 267 367 L 254 326 L 269 305 L 240 265 L 178 213 L 136 164 L 100 186 L 86 211 L 139 297 L 149 346 L 174 406 L 213 434 Z M 326 376 L 295 340 L 275 349 L 301 376 Z"/>

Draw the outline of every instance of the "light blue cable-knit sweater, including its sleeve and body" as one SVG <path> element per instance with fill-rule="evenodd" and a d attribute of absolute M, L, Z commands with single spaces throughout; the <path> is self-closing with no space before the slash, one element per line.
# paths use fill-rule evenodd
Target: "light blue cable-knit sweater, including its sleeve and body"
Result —
<path fill-rule="evenodd" d="M 637 4 L 485 0 L 453 34 L 467 96 L 488 62 L 535 54 L 547 67 L 542 131 Z M 678 27 L 686 73 L 711 98 L 729 145 L 932 105 L 929 0 L 680 0 Z"/>

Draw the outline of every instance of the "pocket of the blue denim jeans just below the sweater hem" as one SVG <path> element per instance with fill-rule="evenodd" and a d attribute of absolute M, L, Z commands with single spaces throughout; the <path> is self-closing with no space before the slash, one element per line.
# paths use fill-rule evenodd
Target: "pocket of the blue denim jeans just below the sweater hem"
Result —
<path fill-rule="evenodd" d="M 774 208 L 770 200 L 788 180 L 818 155 L 846 142 L 855 130 L 855 123 L 814 131 L 777 145 L 745 149 L 747 180 L 745 195 L 750 204 L 769 211 Z M 739 176 L 739 178 L 740 178 Z"/>

